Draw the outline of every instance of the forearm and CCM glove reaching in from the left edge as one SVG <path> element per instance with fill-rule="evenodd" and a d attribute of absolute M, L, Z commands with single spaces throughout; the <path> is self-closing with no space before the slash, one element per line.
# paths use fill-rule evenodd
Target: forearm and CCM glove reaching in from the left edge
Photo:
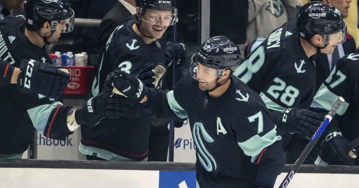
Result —
<path fill-rule="evenodd" d="M 62 93 L 64 93 L 67 83 L 70 82 L 70 75 L 67 68 L 56 67 L 38 61 L 32 61 L 32 63 L 38 67 L 37 69 L 32 69 L 36 77 L 31 77 L 30 82 L 34 84 L 29 85 L 29 88 L 25 88 L 20 87 L 21 82 L 18 82 L 18 79 L 25 80 L 26 74 L 24 74 L 20 68 L 11 66 L 9 62 L 0 60 L 0 75 L 4 75 L 0 76 L 0 87 L 9 84 L 18 84 L 18 88 L 24 93 L 34 92 L 50 98 L 59 98 Z M 26 68 L 27 64 L 28 61 L 24 59 L 21 61 L 20 67 Z M 51 76 L 52 79 L 45 79 Z M 35 87 L 35 85 L 37 85 L 37 87 Z M 52 87 L 46 87 L 46 85 Z"/>

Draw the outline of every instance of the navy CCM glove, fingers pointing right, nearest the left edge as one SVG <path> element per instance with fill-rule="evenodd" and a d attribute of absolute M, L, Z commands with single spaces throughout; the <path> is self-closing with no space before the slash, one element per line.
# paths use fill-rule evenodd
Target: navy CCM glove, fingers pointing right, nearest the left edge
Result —
<path fill-rule="evenodd" d="M 23 93 L 35 92 L 50 98 L 58 98 L 70 82 L 69 70 L 53 64 L 23 59 L 18 77 L 18 88 Z"/>

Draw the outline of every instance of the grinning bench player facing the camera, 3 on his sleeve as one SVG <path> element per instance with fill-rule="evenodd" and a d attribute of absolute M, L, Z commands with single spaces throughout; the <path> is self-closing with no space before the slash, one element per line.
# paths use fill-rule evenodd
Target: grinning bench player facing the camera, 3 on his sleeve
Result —
<path fill-rule="evenodd" d="M 101 92 L 99 86 L 106 75 L 116 69 L 136 76 L 142 67 L 151 70 L 164 62 L 163 34 L 176 21 L 176 1 L 136 0 L 136 6 L 136 14 L 117 26 L 109 37 L 90 96 Z M 164 70 L 161 65 L 156 67 Z M 142 79 L 144 84 L 159 87 L 158 81 L 152 84 L 154 75 L 146 81 Z M 150 120 L 150 115 L 135 105 L 120 121 L 106 118 L 92 129 L 82 127 L 79 151 L 87 159 L 147 160 Z"/>

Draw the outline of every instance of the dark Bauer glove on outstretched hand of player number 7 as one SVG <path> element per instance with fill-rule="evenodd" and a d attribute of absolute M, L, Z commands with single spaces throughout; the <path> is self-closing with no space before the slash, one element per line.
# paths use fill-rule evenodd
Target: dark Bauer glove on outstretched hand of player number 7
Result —
<path fill-rule="evenodd" d="M 123 71 L 114 71 L 113 91 L 111 97 L 125 97 L 131 104 L 139 103 L 146 95 L 147 87 L 137 78 Z M 113 75 L 112 75 L 113 76 Z"/>

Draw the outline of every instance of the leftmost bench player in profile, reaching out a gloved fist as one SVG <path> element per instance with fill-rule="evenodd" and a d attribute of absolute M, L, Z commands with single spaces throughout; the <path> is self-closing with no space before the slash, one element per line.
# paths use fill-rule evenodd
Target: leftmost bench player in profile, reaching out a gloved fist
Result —
<path fill-rule="evenodd" d="M 67 0 L 28 0 L 25 17 L 10 15 L 1 20 L 0 59 L 22 72 L 17 85 L 0 87 L 0 158 L 21 158 L 35 129 L 47 138 L 65 140 L 80 124 L 94 126 L 104 117 L 123 115 L 127 106 L 118 106 L 120 99 L 108 99 L 106 95 L 97 95 L 84 104 L 84 110 L 75 110 L 63 106 L 57 98 L 30 93 L 31 88 L 45 93 L 48 88 L 56 89 L 66 82 L 61 79 L 53 84 L 55 75 L 41 72 L 57 71 L 49 64 L 51 59 L 43 46 L 56 42 L 61 32 L 70 32 L 73 19 L 74 11 Z M 35 60 L 21 63 L 23 59 L 43 63 Z"/>

